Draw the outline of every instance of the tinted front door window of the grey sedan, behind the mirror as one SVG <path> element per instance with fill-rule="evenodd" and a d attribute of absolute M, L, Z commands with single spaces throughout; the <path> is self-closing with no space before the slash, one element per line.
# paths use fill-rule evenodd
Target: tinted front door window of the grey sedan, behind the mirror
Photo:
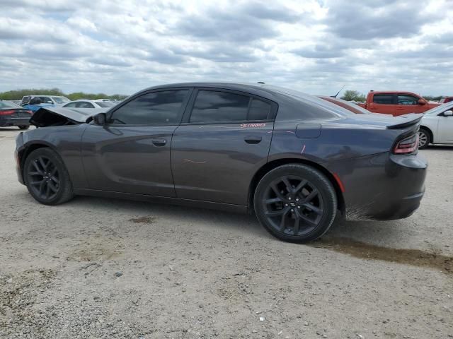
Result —
<path fill-rule="evenodd" d="M 166 90 L 136 97 L 113 112 L 111 122 L 128 125 L 178 124 L 180 109 L 188 92 Z"/>

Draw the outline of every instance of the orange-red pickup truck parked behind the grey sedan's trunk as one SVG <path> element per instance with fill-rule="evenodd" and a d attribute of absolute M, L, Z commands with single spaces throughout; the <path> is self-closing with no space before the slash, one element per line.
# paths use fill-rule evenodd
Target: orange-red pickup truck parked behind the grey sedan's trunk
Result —
<path fill-rule="evenodd" d="M 374 92 L 367 95 L 365 104 L 358 104 L 369 112 L 391 114 L 394 116 L 408 113 L 423 113 L 439 106 L 411 92 Z"/>

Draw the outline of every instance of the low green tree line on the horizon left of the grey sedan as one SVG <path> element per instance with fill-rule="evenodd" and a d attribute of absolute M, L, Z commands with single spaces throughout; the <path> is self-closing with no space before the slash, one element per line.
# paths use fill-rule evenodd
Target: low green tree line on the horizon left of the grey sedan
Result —
<path fill-rule="evenodd" d="M 1 100 L 21 100 L 22 97 L 25 95 L 61 95 L 67 97 L 71 100 L 78 100 L 78 99 L 101 99 L 101 98 L 108 98 L 110 100 L 123 100 L 127 97 L 127 95 L 122 94 L 114 94 L 114 95 L 106 95 L 105 93 L 84 93 L 84 92 L 74 92 L 65 94 L 59 88 L 51 88 L 51 89 L 42 89 L 42 88 L 30 88 L 30 89 L 23 89 L 23 90 L 8 90 L 7 92 L 0 93 Z"/>

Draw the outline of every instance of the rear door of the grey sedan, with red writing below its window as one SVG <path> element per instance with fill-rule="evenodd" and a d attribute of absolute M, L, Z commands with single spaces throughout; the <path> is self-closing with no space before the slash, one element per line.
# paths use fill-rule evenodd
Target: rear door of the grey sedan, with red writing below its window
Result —
<path fill-rule="evenodd" d="M 171 141 L 178 198 L 247 204 L 253 174 L 268 160 L 277 105 L 229 90 L 195 90 Z"/>

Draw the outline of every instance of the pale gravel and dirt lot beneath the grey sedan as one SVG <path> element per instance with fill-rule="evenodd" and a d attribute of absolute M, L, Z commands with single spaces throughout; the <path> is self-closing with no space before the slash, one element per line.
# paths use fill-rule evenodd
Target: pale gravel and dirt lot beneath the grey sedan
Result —
<path fill-rule="evenodd" d="M 453 148 L 415 215 L 309 246 L 248 215 L 36 203 L 0 129 L 0 338 L 453 338 Z"/>

